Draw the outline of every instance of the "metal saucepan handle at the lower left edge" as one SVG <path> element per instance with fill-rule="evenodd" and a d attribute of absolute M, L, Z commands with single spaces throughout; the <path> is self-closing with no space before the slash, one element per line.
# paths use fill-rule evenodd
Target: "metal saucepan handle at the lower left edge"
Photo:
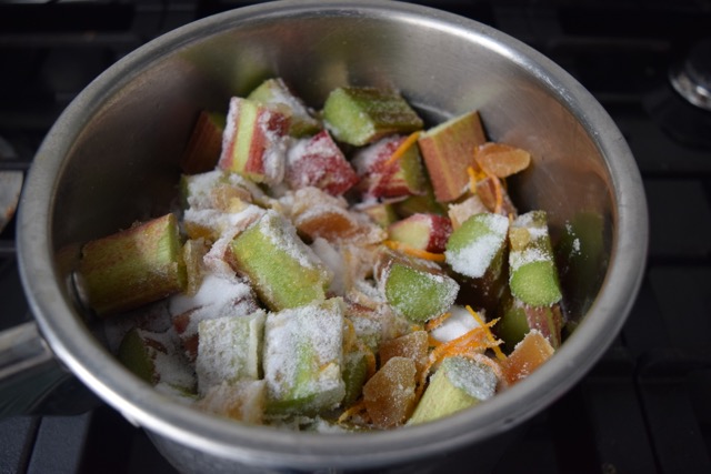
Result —
<path fill-rule="evenodd" d="M 74 414 L 97 404 L 54 359 L 33 321 L 0 332 L 0 418 Z"/>

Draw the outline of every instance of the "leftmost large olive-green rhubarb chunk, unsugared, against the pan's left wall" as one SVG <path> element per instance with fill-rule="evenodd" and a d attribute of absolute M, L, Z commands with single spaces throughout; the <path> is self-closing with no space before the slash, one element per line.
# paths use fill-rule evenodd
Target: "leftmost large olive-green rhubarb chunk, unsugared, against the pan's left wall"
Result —
<path fill-rule="evenodd" d="M 83 300 L 100 316 L 183 291 L 187 275 L 176 216 L 166 214 L 88 242 L 78 276 Z"/>

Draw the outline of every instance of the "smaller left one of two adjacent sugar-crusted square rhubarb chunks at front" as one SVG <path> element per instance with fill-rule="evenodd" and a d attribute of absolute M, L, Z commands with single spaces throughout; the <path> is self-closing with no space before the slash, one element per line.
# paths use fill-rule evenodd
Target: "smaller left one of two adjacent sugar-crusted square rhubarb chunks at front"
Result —
<path fill-rule="evenodd" d="M 258 310 L 250 315 L 200 322 L 196 373 L 201 394 L 222 381 L 260 379 L 266 317 L 264 311 Z"/>

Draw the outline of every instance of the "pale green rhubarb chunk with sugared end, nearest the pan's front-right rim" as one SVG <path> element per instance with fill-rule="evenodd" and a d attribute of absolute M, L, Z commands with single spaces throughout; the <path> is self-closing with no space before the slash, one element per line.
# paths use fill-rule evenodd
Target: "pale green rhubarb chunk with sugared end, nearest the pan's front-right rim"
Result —
<path fill-rule="evenodd" d="M 408 424 L 439 420 L 491 399 L 499 384 L 490 364 L 452 356 L 432 376 Z"/>

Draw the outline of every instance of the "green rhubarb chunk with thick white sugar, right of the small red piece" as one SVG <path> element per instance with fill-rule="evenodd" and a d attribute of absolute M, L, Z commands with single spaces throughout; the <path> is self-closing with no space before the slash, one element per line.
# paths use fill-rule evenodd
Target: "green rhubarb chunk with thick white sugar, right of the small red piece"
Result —
<path fill-rule="evenodd" d="M 447 243 L 444 256 L 457 273 L 482 278 L 505 243 L 509 219 L 493 213 L 469 218 L 454 230 Z"/>

